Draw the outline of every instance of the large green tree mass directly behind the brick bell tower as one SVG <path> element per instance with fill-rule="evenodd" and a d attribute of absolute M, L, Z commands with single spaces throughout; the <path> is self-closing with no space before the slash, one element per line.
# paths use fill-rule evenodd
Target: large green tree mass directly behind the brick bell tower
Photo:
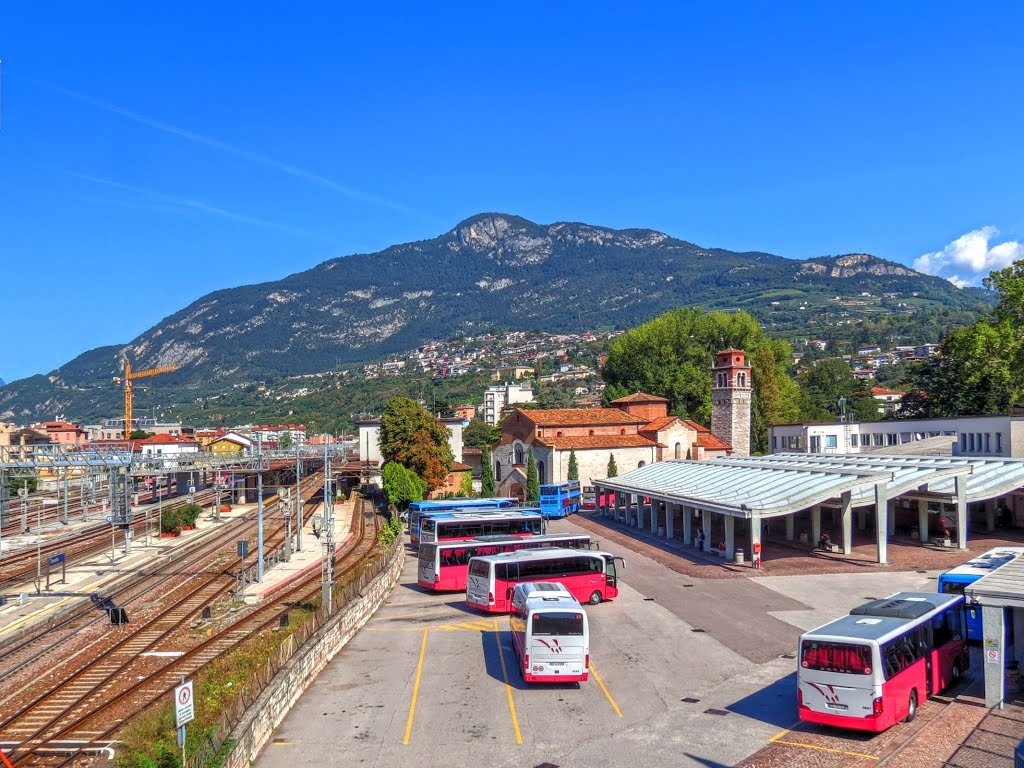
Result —
<path fill-rule="evenodd" d="M 800 391 L 788 378 L 792 348 L 771 339 L 746 312 L 673 309 L 611 341 L 601 373 L 602 402 L 642 391 L 667 397 L 673 414 L 711 421 L 711 369 L 715 352 L 748 353 L 753 378 L 752 447 L 767 450 L 768 426 L 799 418 Z M 625 390 L 625 391 L 624 391 Z"/>

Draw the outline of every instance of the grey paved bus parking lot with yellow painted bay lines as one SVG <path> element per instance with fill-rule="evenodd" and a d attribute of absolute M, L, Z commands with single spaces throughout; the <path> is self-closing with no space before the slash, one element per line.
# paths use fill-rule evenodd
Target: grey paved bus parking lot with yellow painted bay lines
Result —
<path fill-rule="evenodd" d="M 625 584 L 588 609 L 588 682 L 525 686 L 507 616 L 420 590 L 411 557 L 258 766 L 736 765 L 795 724 L 785 656 L 802 629 L 866 597 L 935 586 L 916 572 L 703 580 L 606 549 L 626 556 Z"/>

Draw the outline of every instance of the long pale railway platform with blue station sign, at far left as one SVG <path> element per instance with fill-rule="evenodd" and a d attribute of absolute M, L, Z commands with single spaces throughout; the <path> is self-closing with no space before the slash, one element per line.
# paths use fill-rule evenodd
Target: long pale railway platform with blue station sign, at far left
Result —
<path fill-rule="evenodd" d="M 105 553 L 65 563 L 62 568 L 59 564 L 50 566 L 49 588 L 44 558 L 39 564 L 41 580 L 38 589 L 36 580 L 32 579 L 5 588 L 0 595 L 5 598 L 4 604 L 0 605 L 0 644 L 62 615 L 91 595 L 101 595 L 140 568 L 162 558 L 172 558 L 177 550 L 201 539 L 205 532 L 224 521 L 242 517 L 254 508 L 255 505 L 234 506 L 230 512 L 221 513 L 219 521 L 213 519 L 212 514 L 204 514 L 196 521 L 195 530 L 182 531 L 174 538 L 160 538 L 155 532 L 138 537 L 132 540 L 129 553 L 125 552 L 124 534 L 119 530 L 112 548 Z"/>

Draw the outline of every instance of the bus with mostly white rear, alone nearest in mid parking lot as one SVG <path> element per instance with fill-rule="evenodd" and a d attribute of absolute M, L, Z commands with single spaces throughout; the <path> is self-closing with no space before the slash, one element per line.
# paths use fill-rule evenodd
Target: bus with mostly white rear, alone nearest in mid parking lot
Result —
<path fill-rule="evenodd" d="M 524 682 L 587 681 L 590 674 L 587 611 L 562 585 L 554 582 L 516 585 L 509 625 Z"/>

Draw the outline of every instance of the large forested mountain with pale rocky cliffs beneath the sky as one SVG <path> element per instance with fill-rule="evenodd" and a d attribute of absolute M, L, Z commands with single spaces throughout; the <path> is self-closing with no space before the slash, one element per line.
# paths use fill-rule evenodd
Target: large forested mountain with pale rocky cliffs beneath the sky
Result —
<path fill-rule="evenodd" d="M 121 394 L 112 378 L 122 353 L 136 370 L 177 366 L 153 386 L 161 402 L 181 403 L 459 335 L 630 328 L 690 305 L 745 309 L 799 330 L 822 311 L 972 310 L 985 298 L 866 254 L 796 260 L 703 248 L 650 229 L 485 213 L 432 240 L 208 294 L 127 345 L 10 382 L 0 389 L 0 418 L 116 415 Z"/>

